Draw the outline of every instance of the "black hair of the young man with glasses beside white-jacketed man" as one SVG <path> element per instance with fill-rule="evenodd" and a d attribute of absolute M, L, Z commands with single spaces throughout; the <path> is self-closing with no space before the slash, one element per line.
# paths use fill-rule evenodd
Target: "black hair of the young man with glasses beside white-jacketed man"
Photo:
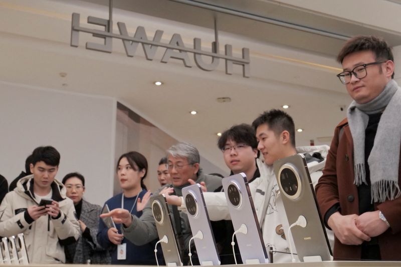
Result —
<path fill-rule="evenodd" d="M 228 140 L 233 140 L 237 144 L 244 143 L 253 149 L 258 148 L 258 141 L 256 140 L 255 129 L 251 125 L 243 123 L 234 125 L 220 136 L 217 146 L 224 149 Z"/>

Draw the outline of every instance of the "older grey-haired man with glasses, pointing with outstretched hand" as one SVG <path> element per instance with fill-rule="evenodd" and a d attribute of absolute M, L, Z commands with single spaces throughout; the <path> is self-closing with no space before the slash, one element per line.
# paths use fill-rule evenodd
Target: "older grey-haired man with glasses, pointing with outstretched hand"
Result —
<path fill-rule="evenodd" d="M 177 143 L 167 150 L 168 172 L 172 181 L 172 189 L 178 196 L 182 196 L 182 188 L 191 183 L 207 184 L 208 191 L 214 191 L 222 185 L 222 179 L 218 176 L 204 174 L 199 167 L 199 152 L 193 145 L 189 143 Z M 161 187 L 155 194 L 161 191 L 165 192 L 166 188 L 171 187 L 166 184 Z M 180 243 L 180 251 L 182 256 L 186 256 L 189 239 L 191 238 L 191 230 L 186 213 L 178 211 L 176 207 L 171 207 L 170 213 L 173 214 L 172 221 L 175 232 L 178 235 Z M 156 224 L 152 215 L 151 203 L 148 202 L 143 209 L 140 218 L 129 214 L 125 209 L 114 209 L 104 216 L 111 216 L 116 223 L 122 223 L 122 232 L 124 237 L 128 238 L 136 245 L 143 245 L 157 238 Z M 179 221 L 178 221 L 179 220 Z M 184 252 L 185 251 L 185 252 Z"/>

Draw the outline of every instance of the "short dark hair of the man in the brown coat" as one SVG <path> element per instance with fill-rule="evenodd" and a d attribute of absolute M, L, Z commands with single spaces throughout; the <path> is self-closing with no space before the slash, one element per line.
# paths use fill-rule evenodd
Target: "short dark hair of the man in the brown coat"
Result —
<path fill-rule="evenodd" d="M 376 61 L 379 60 L 391 60 L 394 61 L 394 56 L 392 55 L 391 48 L 388 46 L 387 42 L 381 37 L 375 36 L 355 36 L 349 39 L 341 51 L 337 55 L 337 61 L 342 64 L 342 61 L 349 54 L 360 52 L 360 51 L 371 51 L 373 52 Z M 394 79 L 394 73 L 391 76 Z"/>

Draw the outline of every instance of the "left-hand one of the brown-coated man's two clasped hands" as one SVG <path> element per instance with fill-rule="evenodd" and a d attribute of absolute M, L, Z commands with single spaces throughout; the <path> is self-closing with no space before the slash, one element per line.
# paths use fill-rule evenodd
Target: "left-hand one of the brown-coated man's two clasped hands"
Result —
<path fill-rule="evenodd" d="M 335 236 L 345 245 L 360 245 L 363 241 L 370 241 L 370 237 L 356 227 L 355 220 L 358 215 L 341 215 L 333 213 L 327 224 L 333 230 Z"/>

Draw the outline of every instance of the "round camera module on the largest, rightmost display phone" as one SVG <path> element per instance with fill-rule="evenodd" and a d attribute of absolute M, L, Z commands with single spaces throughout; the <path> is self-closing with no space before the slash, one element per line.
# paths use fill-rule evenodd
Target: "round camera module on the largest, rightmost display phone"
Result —
<path fill-rule="evenodd" d="M 301 181 L 298 172 L 292 166 L 286 164 L 280 169 L 280 187 L 290 199 L 295 199 L 300 194 Z"/>

